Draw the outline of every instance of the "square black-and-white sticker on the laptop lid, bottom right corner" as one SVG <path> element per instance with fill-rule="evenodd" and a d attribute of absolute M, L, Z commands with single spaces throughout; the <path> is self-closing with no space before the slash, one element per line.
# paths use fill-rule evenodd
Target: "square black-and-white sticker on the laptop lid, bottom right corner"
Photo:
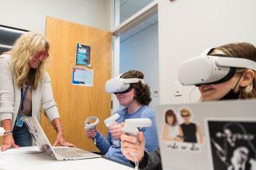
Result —
<path fill-rule="evenodd" d="M 256 169 L 256 122 L 207 121 L 214 170 Z"/>

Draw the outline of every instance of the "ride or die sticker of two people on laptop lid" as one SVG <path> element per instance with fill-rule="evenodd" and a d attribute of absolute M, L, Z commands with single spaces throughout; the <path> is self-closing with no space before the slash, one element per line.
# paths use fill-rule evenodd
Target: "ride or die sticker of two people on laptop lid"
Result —
<path fill-rule="evenodd" d="M 162 119 L 162 141 L 173 151 L 201 152 L 204 144 L 202 125 L 194 121 L 194 113 L 187 108 L 167 109 Z"/>

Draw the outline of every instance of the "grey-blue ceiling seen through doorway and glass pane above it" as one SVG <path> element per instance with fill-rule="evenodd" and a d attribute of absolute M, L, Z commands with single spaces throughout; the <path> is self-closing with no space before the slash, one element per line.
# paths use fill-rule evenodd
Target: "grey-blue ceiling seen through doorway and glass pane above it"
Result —
<path fill-rule="evenodd" d="M 139 10 L 142 10 L 142 8 L 153 1 L 154 0 L 120 0 L 120 23 L 130 18 L 133 14 L 136 14 Z M 128 38 L 140 33 L 142 30 L 154 25 L 156 22 L 158 22 L 158 14 L 154 14 L 145 22 L 142 22 L 138 24 L 138 26 L 134 26 L 133 29 L 121 34 L 120 41 L 126 41 Z"/>

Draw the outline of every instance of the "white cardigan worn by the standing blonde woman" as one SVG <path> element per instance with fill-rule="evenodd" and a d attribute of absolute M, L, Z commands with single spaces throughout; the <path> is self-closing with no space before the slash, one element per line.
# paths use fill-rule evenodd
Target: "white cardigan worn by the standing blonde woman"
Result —
<path fill-rule="evenodd" d="M 0 121 L 10 119 L 14 127 L 21 103 L 21 88 L 14 84 L 9 54 L 0 57 L 0 70 Z M 42 84 L 32 91 L 32 117 L 40 120 L 41 109 L 44 109 L 50 121 L 59 117 L 48 73 L 45 73 Z"/>

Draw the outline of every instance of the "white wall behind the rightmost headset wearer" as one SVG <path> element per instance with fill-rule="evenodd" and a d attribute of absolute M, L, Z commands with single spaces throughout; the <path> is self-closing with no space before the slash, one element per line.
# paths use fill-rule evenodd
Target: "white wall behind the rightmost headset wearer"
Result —
<path fill-rule="evenodd" d="M 203 49 L 230 42 L 256 45 L 255 0 L 159 1 L 160 103 L 190 101 L 191 87 L 174 97 L 177 68 Z M 198 94 L 195 90 L 192 94 Z M 197 97 L 192 101 L 197 101 Z"/>

